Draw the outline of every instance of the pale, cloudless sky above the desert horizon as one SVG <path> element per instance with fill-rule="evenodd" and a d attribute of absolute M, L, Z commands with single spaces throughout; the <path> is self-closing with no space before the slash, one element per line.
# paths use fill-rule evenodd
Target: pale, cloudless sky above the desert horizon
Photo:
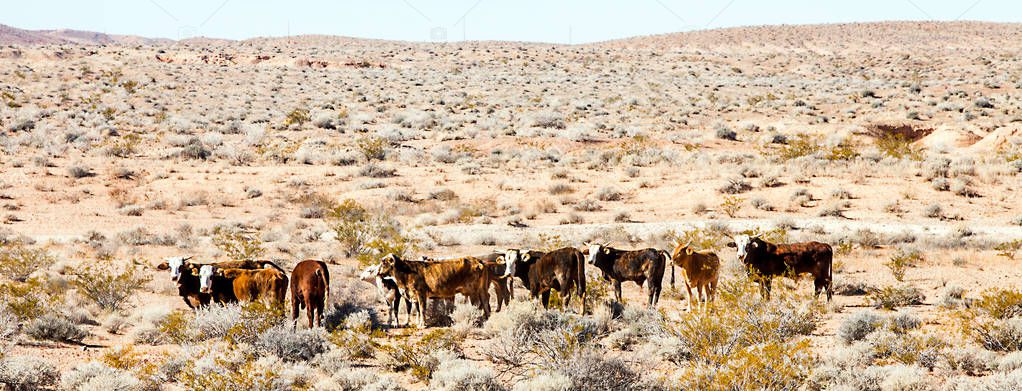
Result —
<path fill-rule="evenodd" d="M 0 0 L 0 23 L 152 38 L 325 34 L 587 43 L 755 25 L 1022 21 L 1017 0 Z M 16 4 L 16 5 L 12 5 Z"/>

